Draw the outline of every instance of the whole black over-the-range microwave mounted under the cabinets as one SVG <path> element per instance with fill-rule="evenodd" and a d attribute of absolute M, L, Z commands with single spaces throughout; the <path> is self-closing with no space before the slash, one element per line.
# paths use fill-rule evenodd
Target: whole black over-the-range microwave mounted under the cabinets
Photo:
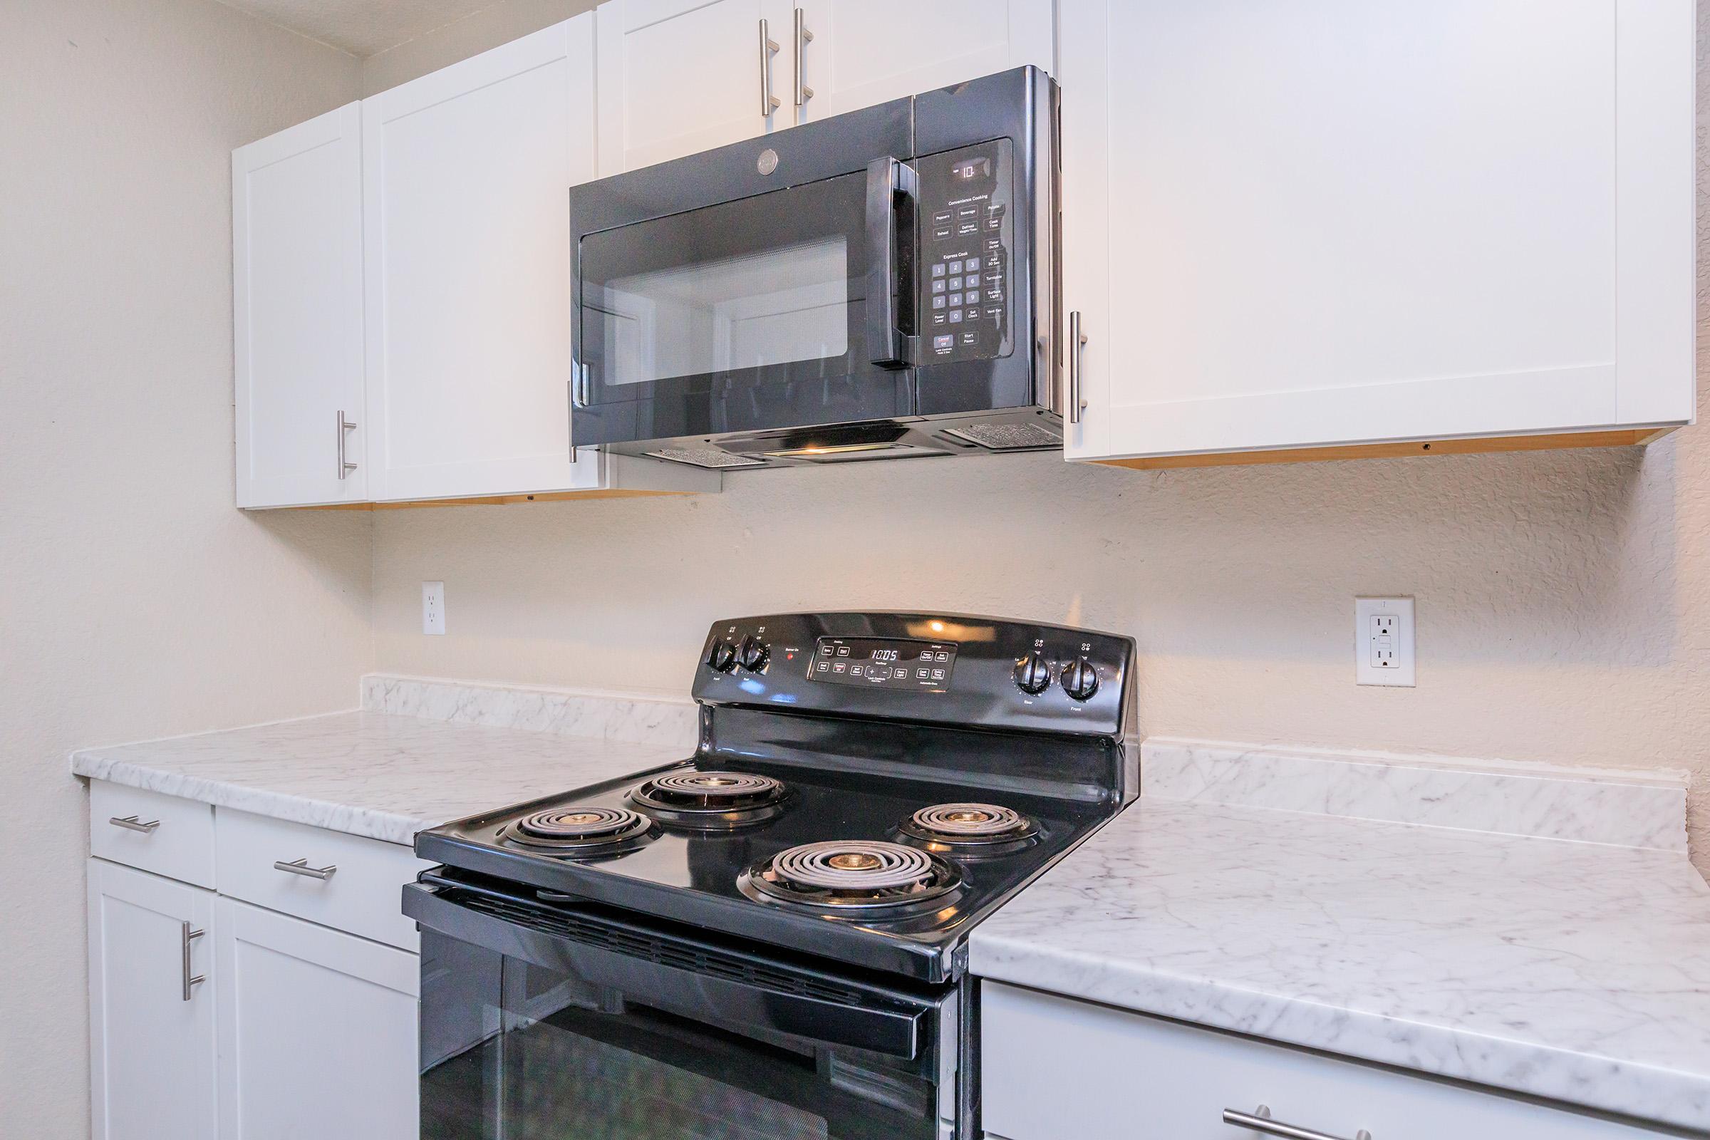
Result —
<path fill-rule="evenodd" d="M 711 468 L 1062 446 L 1033 67 L 569 191 L 571 439 Z"/>

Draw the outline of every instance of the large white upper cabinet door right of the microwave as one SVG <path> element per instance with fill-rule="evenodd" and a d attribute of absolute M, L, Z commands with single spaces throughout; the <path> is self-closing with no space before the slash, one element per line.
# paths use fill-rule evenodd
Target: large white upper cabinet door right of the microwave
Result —
<path fill-rule="evenodd" d="M 1691 0 L 1060 0 L 1070 458 L 1693 417 Z"/>

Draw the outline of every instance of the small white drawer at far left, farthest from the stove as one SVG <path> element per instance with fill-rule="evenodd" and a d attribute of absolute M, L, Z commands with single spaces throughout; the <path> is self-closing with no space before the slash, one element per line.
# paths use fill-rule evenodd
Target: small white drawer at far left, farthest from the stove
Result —
<path fill-rule="evenodd" d="M 159 791 L 91 779 L 89 853 L 212 889 L 214 808 Z"/>

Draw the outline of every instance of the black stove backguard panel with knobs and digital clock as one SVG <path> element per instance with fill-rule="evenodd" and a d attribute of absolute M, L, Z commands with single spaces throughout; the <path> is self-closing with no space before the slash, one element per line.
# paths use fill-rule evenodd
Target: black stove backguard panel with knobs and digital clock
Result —
<path fill-rule="evenodd" d="M 1134 639 L 961 614 L 775 614 L 713 626 L 703 704 L 1120 735 Z"/>

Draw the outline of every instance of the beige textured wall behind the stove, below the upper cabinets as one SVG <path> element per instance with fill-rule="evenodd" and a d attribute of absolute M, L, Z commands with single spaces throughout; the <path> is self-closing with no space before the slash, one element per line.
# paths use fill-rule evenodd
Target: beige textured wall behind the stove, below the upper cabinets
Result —
<path fill-rule="evenodd" d="M 681 694 L 723 615 L 1084 622 L 1139 639 L 1147 733 L 1689 767 L 1710 870 L 1710 427 L 1648 451 L 1146 475 L 917 460 L 374 526 L 385 670 Z M 422 579 L 446 583 L 445 638 L 421 634 Z M 1354 685 L 1358 593 L 1418 596 L 1418 689 Z"/>

